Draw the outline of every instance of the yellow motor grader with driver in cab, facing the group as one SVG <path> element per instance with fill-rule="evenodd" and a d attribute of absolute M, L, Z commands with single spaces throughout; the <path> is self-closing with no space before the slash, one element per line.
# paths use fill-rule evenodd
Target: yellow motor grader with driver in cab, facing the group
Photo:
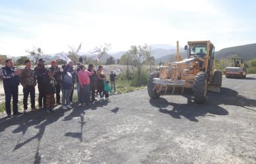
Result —
<path fill-rule="evenodd" d="M 148 94 L 152 99 L 158 98 L 168 90 L 175 88 L 192 88 L 194 101 L 204 103 L 207 90 L 220 92 L 222 72 L 214 69 L 214 45 L 210 41 L 188 41 L 185 45 L 187 59 L 179 55 L 177 41 L 177 61 L 166 63 L 159 72 L 152 72 L 148 78 Z"/>

